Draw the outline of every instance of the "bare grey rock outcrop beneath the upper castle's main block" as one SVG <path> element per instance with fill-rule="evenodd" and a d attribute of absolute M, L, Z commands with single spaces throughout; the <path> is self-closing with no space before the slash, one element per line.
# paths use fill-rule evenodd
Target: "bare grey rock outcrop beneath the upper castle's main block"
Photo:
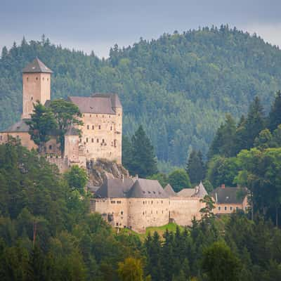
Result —
<path fill-rule="evenodd" d="M 122 164 L 117 164 L 107 159 L 98 159 L 96 162 L 87 163 L 87 170 L 89 173 L 89 184 L 92 186 L 102 185 L 106 177 L 129 177 L 129 171 Z"/>

